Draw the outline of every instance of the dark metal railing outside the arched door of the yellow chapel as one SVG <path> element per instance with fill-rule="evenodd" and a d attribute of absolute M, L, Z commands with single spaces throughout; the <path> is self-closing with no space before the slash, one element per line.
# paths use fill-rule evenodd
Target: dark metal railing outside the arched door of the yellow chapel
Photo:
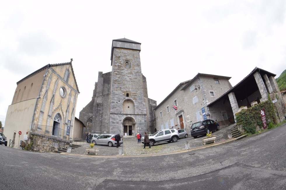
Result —
<path fill-rule="evenodd" d="M 33 124 L 32 133 L 34 135 L 45 135 L 51 138 L 69 140 L 69 133 L 66 130 L 58 128 L 57 126 Z"/>

